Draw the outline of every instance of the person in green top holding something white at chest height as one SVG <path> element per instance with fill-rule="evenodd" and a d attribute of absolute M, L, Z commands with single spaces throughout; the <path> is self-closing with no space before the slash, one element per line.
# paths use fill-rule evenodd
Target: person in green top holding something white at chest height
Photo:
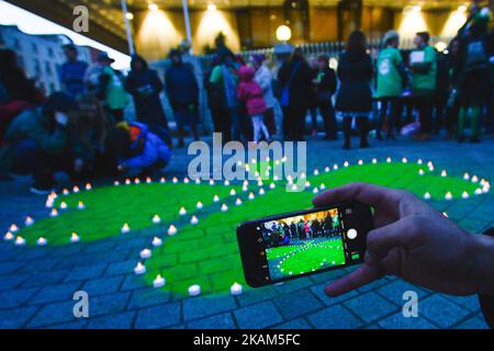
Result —
<path fill-rule="evenodd" d="M 420 115 L 420 133 L 417 140 L 428 140 L 433 129 L 433 105 L 436 93 L 437 53 L 429 45 L 427 32 L 417 33 L 414 43 L 417 47 L 409 57 L 412 90 Z"/>

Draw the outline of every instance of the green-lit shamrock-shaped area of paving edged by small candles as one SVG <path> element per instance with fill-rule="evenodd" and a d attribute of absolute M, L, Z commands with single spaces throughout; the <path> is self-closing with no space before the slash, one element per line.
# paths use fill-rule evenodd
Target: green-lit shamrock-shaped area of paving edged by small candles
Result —
<path fill-rule="evenodd" d="M 418 176 L 419 169 L 425 171 L 425 176 Z M 19 235 L 26 239 L 27 245 L 35 245 L 38 237 L 47 238 L 48 245 L 68 245 L 71 233 L 77 233 L 81 241 L 93 241 L 125 235 L 121 234 L 124 223 L 128 223 L 132 230 L 153 227 L 151 217 L 155 214 L 160 216 L 165 234 L 168 225 L 179 218 L 181 206 L 187 208 L 190 218 L 197 212 L 197 202 L 201 201 L 204 210 L 198 215 L 199 224 L 179 226 L 173 237 L 164 235 L 164 245 L 155 248 L 151 258 L 145 262 L 147 273 L 144 279 L 151 284 L 159 273 L 167 280 L 162 290 L 179 295 L 187 295 L 187 288 L 192 284 L 200 284 L 203 294 L 228 294 L 234 282 L 246 287 L 235 234 L 242 222 L 308 208 L 314 196 L 312 189 L 322 183 L 329 189 L 363 181 L 407 189 L 419 197 L 429 192 L 433 200 L 444 200 L 448 191 L 453 199 L 460 199 L 463 191 L 473 196 L 474 190 L 480 186 L 461 178 L 439 174 L 440 170 L 429 173 L 426 165 L 412 162 L 340 166 L 337 171 L 325 173 L 324 169 L 319 169 L 319 176 L 307 177 L 311 188 L 306 192 L 289 193 L 280 182 L 274 190 L 269 190 L 268 182 L 265 182 L 266 194 L 261 196 L 256 192 L 254 201 L 247 200 L 248 192 L 242 192 L 242 186 L 211 186 L 205 182 L 200 185 L 193 182 L 153 183 L 81 190 L 80 193 L 57 199 L 57 206 L 64 201 L 69 207 L 61 211 L 58 217 L 38 219 L 33 226 L 21 228 Z M 251 182 L 250 186 L 257 189 L 256 182 Z M 235 188 L 237 196 L 242 194 L 242 206 L 235 206 L 232 202 L 237 196 L 228 196 L 232 188 Z M 220 203 L 213 203 L 214 194 L 221 197 Z M 226 197 L 231 201 L 229 208 L 223 213 L 220 205 Z M 76 210 L 79 201 L 85 203 L 86 210 Z M 289 263 L 285 261 L 285 264 Z"/>

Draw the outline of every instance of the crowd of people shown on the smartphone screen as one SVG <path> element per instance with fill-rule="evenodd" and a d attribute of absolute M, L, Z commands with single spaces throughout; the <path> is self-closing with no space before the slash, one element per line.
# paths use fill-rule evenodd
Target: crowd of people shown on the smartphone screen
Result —
<path fill-rule="evenodd" d="M 280 220 L 262 226 L 262 238 L 268 248 L 288 246 L 293 240 L 332 238 L 340 235 L 338 215 L 324 219 Z"/>

